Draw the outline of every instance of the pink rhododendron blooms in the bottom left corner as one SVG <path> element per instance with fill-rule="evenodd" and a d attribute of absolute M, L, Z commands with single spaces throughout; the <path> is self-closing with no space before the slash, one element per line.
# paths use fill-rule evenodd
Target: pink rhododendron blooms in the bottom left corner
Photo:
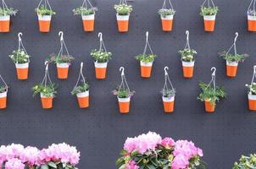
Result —
<path fill-rule="evenodd" d="M 52 144 L 47 149 L 24 147 L 21 144 L 0 147 L 0 166 L 5 169 L 57 168 L 58 165 L 75 169 L 80 160 L 80 152 L 69 144 Z M 56 166 L 56 167 L 55 167 Z"/>

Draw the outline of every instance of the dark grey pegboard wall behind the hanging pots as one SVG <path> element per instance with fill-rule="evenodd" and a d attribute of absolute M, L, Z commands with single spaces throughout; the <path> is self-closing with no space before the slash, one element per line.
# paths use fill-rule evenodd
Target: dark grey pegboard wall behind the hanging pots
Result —
<path fill-rule="evenodd" d="M 256 59 L 254 41 L 256 35 L 248 33 L 246 10 L 249 0 L 214 1 L 220 8 L 215 31 L 203 31 L 203 18 L 199 16 L 201 0 L 173 1 L 175 10 L 174 30 L 161 30 L 157 11 L 162 7 L 159 0 L 136 0 L 131 3 L 130 31 L 117 32 L 114 3 L 118 1 L 97 0 L 95 31 L 82 30 L 81 17 L 72 14 L 72 9 L 81 5 L 81 0 L 53 0 L 52 30 L 48 34 L 38 31 L 35 8 L 39 1 L 7 0 L 8 6 L 19 9 L 12 19 L 11 33 L 0 34 L 0 73 L 11 86 L 8 93 L 8 108 L 0 114 L 0 143 L 12 142 L 25 145 L 47 146 L 53 142 L 67 142 L 81 151 L 80 168 L 113 169 L 127 136 L 132 137 L 156 131 L 174 139 L 192 139 L 203 148 L 204 161 L 208 168 L 231 168 L 241 154 L 255 151 L 255 118 L 248 112 L 247 90 L 253 64 Z M 55 65 L 50 66 L 50 75 L 58 83 L 58 97 L 52 110 L 42 110 L 39 96 L 32 97 L 31 87 L 40 83 L 44 74 L 44 60 L 49 54 L 58 52 L 58 31 L 64 31 L 64 40 L 75 62 L 70 68 L 67 80 L 56 78 Z M 140 77 L 139 63 L 134 58 L 142 53 L 145 32 L 159 57 L 153 65 L 151 79 Z M 198 52 L 193 79 L 183 79 L 181 60 L 177 53 L 186 43 L 185 31 L 190 30 L 190 43 Z M 16 79 L 14 63 L 8 54 L 18 47 L 18 32 L 23 32 L 25 48 L 31 54 L 29 80 Z M 94 65 L 90 52 L 99 45 L 97 33 L 103 32 L 103 39 L 114 57 L 109 62 L 105 80 L 95 79 Z M 218 52 L 227 50 L 235 32 L 239 32 L 237 52 L 251 57 L 240 64 L 237 78 L 225 76 L 225 61 Z M 85 63 L 85 74 L 91 84 L 91 106 L 79 109 L 70 90 Z M 116 98 L 111 94 L 120 83 L 120 66 L 136 95 L 131 100 L 129 115 L 120 115 Z M 164 66 L 170 68 L 170 79 L 175 86 L 175 112 L 164 114 L 159 91 L 164 85 Z M 228 97 L 220 101 L 214 114 L 204 112 L 203 103 L 197 101 L 198 81 L 210 80 L 210 68 L 216 67 L 218 85 L 224 85 Z"/>

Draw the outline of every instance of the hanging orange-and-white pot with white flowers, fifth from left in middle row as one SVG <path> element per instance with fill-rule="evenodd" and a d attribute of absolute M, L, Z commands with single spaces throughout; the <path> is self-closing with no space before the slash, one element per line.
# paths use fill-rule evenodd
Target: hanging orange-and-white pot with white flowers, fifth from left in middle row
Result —
<path fill-rule="evenodd" d="M 181 63 L 183 69 L 183 77 L 184 78 L 192 78 L 194 74 L 194 66 L 195 66 L 195 54 L 197 52 L 190 48 L 189 44 L 189 31 L 186 30 L 186 46 L 183 50 L 179 51 L 181 54 Z"/>

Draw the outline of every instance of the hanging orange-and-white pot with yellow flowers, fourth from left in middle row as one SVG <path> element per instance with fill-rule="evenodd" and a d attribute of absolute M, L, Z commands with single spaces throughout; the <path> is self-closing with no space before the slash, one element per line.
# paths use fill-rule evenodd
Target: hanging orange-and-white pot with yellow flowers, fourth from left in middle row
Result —
<path fill-rule="evenodd" d="M 150 54 L 147 54 L 147 46 L 149 48 Z M 146 45 L 142 54 L 136 56 L 136 60 L 140 61 L 141 65 L 141 76 L 142 78 L 150 78 L 151 71 L 153 67 L 153 61 L 157 56 L 153 54 L 152 48 L 148 42 L 148 32 L 146 32 Z"/>

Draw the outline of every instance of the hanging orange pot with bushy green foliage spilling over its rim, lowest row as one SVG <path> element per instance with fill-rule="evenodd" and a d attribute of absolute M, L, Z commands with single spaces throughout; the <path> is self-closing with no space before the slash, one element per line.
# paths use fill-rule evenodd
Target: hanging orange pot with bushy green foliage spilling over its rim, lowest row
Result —
<path fill-rule="evenodd" d="M 226 96 L 225 90 L 222 87 L 216 86 L 215 80 L 215 71 L 216 68 L 211 68 L 214 70 L 212 74 L 212 79 L 209 84 L 205 84 L 203 82 L 199 83 L 199 87 L 202 90 L 200 95 L 198 96 L 198 100 L 204 101 L 205 112 L 214 112 L 216 101 L 220 101 L 221 98 Z"/>

